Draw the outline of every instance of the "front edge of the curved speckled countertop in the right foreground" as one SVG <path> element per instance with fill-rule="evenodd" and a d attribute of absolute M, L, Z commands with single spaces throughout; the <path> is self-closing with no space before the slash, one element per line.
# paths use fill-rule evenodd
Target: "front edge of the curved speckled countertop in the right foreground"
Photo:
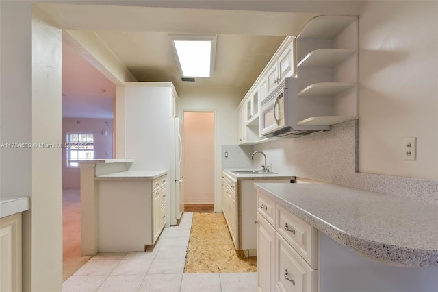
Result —
<path fill-rule="evenodd" d="M 312 215 L 306 210 L 296 206 L 295 204 L 277 196 L 255 184 L 257 191 L 263 193 L 268 198 L 272 199 L 276 204 L 289 210 L 300 219 L 309 223 L 311 226 L 317 228 L 331 239 L 350 247 L 350 249 L 360 254 L 371 256 L 378 260 L 385 260 L 386 262 L 397 263 L 411 267 L 438 267 L 438 251 L 437 250 L 423 250 L 409 247 L 400 247 L 398 245 L 391 245 L 383 242 L 376 242 L 367 239 L 361 239 L 352 234 L 348 234 L 331 223 L 326 222 L 319 217 Z"/>

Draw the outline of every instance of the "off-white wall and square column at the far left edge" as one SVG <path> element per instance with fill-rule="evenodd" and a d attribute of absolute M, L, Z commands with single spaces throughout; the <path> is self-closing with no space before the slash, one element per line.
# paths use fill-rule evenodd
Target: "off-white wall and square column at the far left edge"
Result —
<path fill-rule="evenodd" d="M 0 5 L 1 143 L 61 143 L 62 32 L 30 2 Z M 31 197 L 23 291 L 62 290 L 61 159 L 61 149 L 1 149 L 1 196 Z"/>

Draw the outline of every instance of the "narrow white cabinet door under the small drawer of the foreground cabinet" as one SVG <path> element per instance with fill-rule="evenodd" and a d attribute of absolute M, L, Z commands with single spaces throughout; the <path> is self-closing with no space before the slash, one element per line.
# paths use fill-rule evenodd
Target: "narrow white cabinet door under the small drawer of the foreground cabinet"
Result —
<path fill-rule="evenodd" d="M 275 229 L 257 212 L 257 287 L 274 291 Z"/>

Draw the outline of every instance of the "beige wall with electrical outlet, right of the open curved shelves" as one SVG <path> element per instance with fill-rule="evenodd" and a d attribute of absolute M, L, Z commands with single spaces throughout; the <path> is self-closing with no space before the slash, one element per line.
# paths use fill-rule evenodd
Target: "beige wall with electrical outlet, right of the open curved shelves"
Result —
<path fill-rule="evenodd" d="M 359 46 L 359 171 L 438 179 L 438 2 L 364 2 Z"/>

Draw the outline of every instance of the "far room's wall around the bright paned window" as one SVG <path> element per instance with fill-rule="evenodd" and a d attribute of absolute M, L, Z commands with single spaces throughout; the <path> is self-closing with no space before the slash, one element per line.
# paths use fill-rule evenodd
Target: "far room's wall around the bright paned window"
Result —
<path fill-rule="evenodd" d="M 102 131 L 106 130 L 107 135 Z M 66 143 L 69 132 L 92 132 L 94 134 L 94 158 L 110 159 L 113 154 L 112 119 L 62 119 L 62 143 Z M 79 188 L 79 167 L 67 167 L 66 148 L 62 149 L 62 188 Z"/>

